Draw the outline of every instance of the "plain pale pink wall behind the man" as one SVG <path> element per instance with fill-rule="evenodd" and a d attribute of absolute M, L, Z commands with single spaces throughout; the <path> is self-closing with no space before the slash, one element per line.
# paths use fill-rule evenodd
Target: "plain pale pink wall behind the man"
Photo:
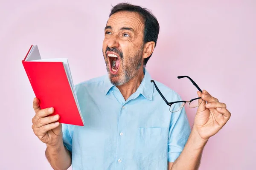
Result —
<path fill-rule="evenodd" d="M 118 2 L 0 0 L 0 169 L 51 169 L 31 128 L 34 93 L 21 64 L 30 45 L 38 44 L 43 58 L 67 57 L 74 84 L 105 74 L 103 29 Z M 256 1 L 132 3 L 151 9 L 160 23 L 151 76 L 191 99 L 196 88 L 177 79 L 188 75 L 232 113 L 204 148 L 200 170 L 254 169 Z M 186 111 L 192 125 L 195 110 Z"/>

